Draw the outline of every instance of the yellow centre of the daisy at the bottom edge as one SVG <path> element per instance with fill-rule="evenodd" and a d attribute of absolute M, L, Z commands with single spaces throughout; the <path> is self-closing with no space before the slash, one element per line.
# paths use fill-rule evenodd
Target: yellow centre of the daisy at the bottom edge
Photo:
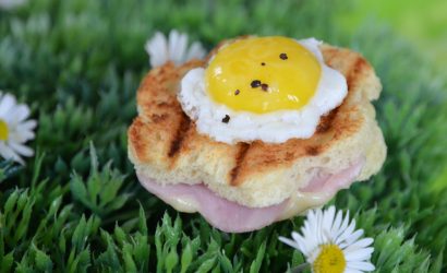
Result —
<path fill-rule="evenodd" d="M 346 269 L 343 251 L 337 245 L 324 245 L 312 264 L 315 273 L 342 273 Z"/>

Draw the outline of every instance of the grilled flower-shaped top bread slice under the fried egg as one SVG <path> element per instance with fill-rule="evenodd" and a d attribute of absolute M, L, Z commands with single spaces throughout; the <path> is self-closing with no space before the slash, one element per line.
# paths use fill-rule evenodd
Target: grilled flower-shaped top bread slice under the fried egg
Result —
<path fill-rule="evenodd" d="M 250 207 L 278 204 L 305 187 L 316 170 L 336 174 L 359 159 L 365 164 L 357 180 L 366 180 L 386 157 L 371 104 L 379 96 L 380 82 L 361 55 L 328 45 L 321 49 L 325 62 L 346 76 L 348 95 L 321 118 L 312 138 L 280 144 L 230 145 L 196 131 L 177 93 L 182 76 L 206 60 L 153 69 L 140 85 L 138 116 L 128 131 L 129 157 L 136 171 L 159 183 L 203 182 L 216 194 Z"/>

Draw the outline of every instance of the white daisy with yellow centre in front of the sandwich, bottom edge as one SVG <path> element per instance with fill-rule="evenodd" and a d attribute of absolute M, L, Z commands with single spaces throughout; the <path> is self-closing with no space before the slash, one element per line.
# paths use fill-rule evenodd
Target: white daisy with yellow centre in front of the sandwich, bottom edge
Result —
<path fill-rule="evenodd" d="M 300 250 L 315 273 L 361 273 L 375 270 L 370 262 L 374 251 L 372 238 L 360 239 L 363 229 L 355 230 L 355 221 L 349 223 L 349 211 L 336 215 L 335 206 L 326 211 L 311 210 L 293 239 L 279 240 Z"/>

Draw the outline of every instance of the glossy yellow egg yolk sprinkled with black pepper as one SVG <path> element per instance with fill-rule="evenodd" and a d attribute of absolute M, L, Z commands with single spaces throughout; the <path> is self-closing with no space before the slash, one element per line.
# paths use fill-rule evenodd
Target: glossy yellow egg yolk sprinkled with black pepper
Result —
<path fill-rule="evenodd" d="M 273 36 L 222 47 L 205 72 L 210 97 L 233 110 L 265 114 L 300 109 L 315 94 L 322 67 L 297 40 Z"/>

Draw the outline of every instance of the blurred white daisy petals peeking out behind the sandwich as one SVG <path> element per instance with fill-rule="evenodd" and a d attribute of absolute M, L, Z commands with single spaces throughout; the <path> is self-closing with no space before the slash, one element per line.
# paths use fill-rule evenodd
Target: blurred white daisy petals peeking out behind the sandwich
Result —
<path fill-rule="evenodd" d="M 198 41 L 188 48 L 188 35 L 176 29 L 169 33 L 169 38 L 157 32 L 146 41 L 145 49 L 150 57 L 153 68 L 160 67 L 168 61 L 173 61 L 176 66 L 179 66 L 194 58 L 202 59 L 206 54 Z"/>

